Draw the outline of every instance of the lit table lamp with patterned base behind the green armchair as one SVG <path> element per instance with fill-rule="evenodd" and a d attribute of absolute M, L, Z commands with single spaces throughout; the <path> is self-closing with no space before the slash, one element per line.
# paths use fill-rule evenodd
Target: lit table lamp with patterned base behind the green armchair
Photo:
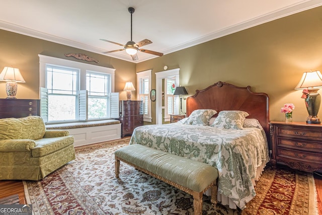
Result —
<path fill-rule="evenodd" d="M 22 77 L 19 68 L 8 67 L 2 70 L 0 74 L 0 81 L 7 82 L 6 83 L 6 91 L 7 91 L 7 99 L 16 99 L 16 94 L 18 90 L 18 84 L 26 83 L 24 78 Z"/>

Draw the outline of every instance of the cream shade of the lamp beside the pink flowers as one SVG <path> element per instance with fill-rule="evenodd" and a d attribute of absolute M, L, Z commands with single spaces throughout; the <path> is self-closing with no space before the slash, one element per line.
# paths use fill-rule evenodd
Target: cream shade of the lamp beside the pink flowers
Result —
<path fill-rule="evenodd" d="M 322 75 L 320 71 L 305 71 L 305 73 L 303 73 L 295 90 L 302 90 L 305 88 L 322 88 Z"/>

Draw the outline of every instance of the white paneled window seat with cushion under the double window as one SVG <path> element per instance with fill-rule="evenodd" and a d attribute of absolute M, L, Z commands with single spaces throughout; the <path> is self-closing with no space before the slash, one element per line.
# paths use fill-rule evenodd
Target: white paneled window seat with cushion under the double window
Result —
<path fill-rule="evenodd" d="M 46 129 L 69 130 L 74 147 L 121 138 L 121 123 L 116 119 L 48 124 Z"/>

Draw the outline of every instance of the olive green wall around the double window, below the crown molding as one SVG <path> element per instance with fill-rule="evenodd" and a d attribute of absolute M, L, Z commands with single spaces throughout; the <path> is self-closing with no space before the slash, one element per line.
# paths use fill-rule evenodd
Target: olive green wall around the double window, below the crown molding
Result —
<path fill-rule="evenodd" d="M 128 81 L 136 84 L 136 63 L 108 57 L 82 49 L 61 45 L 5 30 L 0 30 L 0 72 L 5 66 L 20 69 L 26 83 L 18 83 L 18 99 L 39 99 L 39 57 L 38 54 L 58 57 L 78 62 L 115 68 L 115 92 L 120 92 L 120 99 L 126 100 L 123 91 Z M 96 60 L 86 61 L 74 57 L 66 57 L 69 53 L 83 53 Z M 0 98 L 6 98 L 6 83 L 0 82 Z M 133 99 L 136 93 L 133 93 Z"/>

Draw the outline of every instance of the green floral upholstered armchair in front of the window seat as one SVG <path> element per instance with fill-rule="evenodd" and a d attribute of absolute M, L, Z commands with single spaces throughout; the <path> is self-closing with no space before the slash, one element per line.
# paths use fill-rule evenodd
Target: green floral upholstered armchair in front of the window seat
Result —
<path fill-rule="evenodd" d="M 68 130 L 46 130 L 39 116 L 0 119 L 0 180 L 39 180 L 75 159 Z"/>

